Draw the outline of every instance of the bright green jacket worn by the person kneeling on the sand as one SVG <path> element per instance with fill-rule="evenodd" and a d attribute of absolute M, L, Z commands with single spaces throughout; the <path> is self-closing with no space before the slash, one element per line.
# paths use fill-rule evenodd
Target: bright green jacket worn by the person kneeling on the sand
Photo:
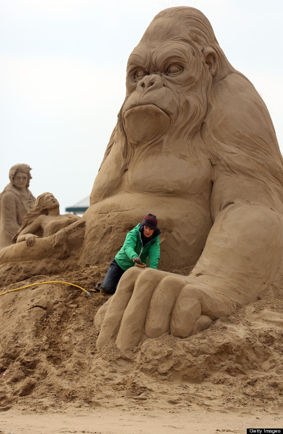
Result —
<path fill-rule="evenodd" d="M 130 232 L 127 233 L 123 247 L 115 256 L 115 261 L 119 267 L 123 268 L 125 271 L 128 270 L 128 268 L 135 266 L 133 258 L 136 258 L 139 255 L 141 262 L 144 264 L 147 263 L 147 258 L 149 258 L 149 268 L 157 268 L 158 266 L 158 260 L 160 258 L 160 241 L 158 232 L 155 230 L 153 232 L 153 238 L 144 244 L 142 248 L 141 230 L 143 230 L 141 223 L 137 224 L 134 229 L 130 230 Z"/>

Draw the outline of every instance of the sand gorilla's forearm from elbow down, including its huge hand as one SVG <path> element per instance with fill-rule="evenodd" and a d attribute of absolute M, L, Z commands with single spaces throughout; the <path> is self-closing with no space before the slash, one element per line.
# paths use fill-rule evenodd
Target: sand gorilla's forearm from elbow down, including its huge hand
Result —
<path fill-rule="evenodd" d="M 116 336 L 121 350 L 143 333 L 179 337 L 230 315 L 237 303 L 254 301 L 272 265 L 279 261 L 282 228 L 277 214 L 262 205 L 233 204 L 217 216 L 206 247 L 188 277 L 157 270 L 128 270 L 112 298 L 97 347 Z"/>

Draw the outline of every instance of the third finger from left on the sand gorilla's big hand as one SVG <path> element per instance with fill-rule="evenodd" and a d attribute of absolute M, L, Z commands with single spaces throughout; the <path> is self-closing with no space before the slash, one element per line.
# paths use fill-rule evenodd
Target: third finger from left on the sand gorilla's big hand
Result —
<path fill-rule="evenodd" d="M 172 310 L 177 296 L 185 282 L 179 278 L 167 276 L 159 283 L 150 301 L 145 333 L 148 337 L 158 337 L 170 328 Z"/>

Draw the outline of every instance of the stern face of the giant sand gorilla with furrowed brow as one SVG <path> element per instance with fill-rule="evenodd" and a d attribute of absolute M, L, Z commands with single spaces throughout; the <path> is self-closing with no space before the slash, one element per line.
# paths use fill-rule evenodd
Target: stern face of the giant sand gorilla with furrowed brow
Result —
<path fill-rule="evenodd" d="M 201 51 L 180 37 L 180 27 L 172 34 L 172 21 L 169 39 L 168 28 L 161 30 L 151 24 L 128 62 L 122 116 L 133 144 L 151 143 L 176 127 L 190 135 L 207 109 L 210 80 Z"/>

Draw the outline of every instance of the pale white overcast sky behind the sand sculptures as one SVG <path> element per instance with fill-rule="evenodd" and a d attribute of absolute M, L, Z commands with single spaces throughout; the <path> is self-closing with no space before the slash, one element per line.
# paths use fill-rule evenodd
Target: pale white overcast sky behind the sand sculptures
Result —
<path fill-rule="evenodd" d="M 265 101 L 283 152 L 282 0 L 0 0 L 0 191 L 16 163 L 61 213 L 90 194 L 125 98 L 126 65 L 162 9 L 193 6 Z"/>

